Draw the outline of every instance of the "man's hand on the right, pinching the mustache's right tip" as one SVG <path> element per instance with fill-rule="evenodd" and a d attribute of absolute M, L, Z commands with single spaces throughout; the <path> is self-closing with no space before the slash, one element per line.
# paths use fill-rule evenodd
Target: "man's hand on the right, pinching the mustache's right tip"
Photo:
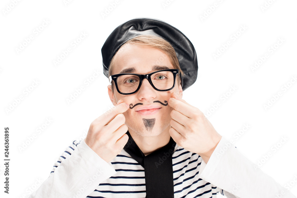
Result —
<path fill-rule="evenodd" d="M 173 110 L 169 134 L 178 146 L 197 153 L 207 163 L 222 136 L 214 129 L 205 115 L 175 93 L 171 93 L 168 104 Z"/>

